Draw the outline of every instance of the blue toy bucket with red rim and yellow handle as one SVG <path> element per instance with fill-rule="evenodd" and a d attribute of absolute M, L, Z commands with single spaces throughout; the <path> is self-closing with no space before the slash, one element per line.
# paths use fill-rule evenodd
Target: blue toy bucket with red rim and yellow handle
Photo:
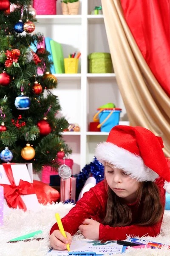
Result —
<path fill-rule="evenodd" d="M 98 109 L 99 110 L 99 109 Z M 99 110 L 98 112 L 100 112 Z M 119 117 L 122 112 L 121 108 L 102 109 L 99 113 L 99 122 L 101 131 L 110 132 L 115 125 L 119 125 Z"/>

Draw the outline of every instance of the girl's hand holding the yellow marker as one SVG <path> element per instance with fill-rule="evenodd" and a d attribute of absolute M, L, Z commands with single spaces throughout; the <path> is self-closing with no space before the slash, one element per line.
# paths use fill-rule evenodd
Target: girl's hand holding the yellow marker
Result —
<path fill-rule="evenodd" d="M 59 230 L 54 230 L 50 235 L 50 245 L 56 250 L 66 250 L 66 244 L 71 244 L 72 236 L 70 233 L 65 232 L 67 238 L 62 236 L 62 233 Z"/>

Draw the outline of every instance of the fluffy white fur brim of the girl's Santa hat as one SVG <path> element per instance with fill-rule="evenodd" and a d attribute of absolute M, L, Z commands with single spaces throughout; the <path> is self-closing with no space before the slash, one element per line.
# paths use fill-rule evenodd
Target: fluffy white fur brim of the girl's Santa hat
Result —
<path fill-rule="evenodd" d="M 96 147 L 96 158 L 104 164 L 105 161 L 116 168 L 123 169 L 130 177 L 138 181 L 155 181 L 159 175 L 145 166 L 142 157 L 137 156 L 113 143 L 103 142 Z"/>

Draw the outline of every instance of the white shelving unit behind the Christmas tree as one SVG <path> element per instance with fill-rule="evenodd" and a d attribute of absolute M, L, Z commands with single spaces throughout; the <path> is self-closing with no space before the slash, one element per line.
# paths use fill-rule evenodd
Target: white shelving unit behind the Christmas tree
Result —
<path fill-rule="evenodd" d="M 58 87 L 53 93 L 59 96 L 61 115 L 69 123 L 79 124 L 80 132 L 63 132 L 63 138 L 71 146 L 74 160 L 73 172 L 78 173 L 94 157 L 97 143 L 107 139 L 107 132 L 90 132 L 96 109 L 108 102 L 122 108 L 120 124 L 129 125 L 122 97 L 114 73 L 88 73 L 88 54 L 110 52 L 103 15 L 90 15 L 101 0 L 82 0 L 79 15 L 62 15 L 60 0 L 57 15 L 37 15 L 36 30 L 45 37 L 62 44 L 64 57 L 75 51 L 82 53 L 78 74 L 54 74 Z"/>

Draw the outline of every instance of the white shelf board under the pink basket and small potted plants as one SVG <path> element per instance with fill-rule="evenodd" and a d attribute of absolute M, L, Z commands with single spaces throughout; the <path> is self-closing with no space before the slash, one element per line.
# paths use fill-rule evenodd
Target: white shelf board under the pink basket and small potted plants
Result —
<path fill-rule="evenodd" d="M 82 15 L 37 15 L 38 23 L 41 24 L 81 24 Z"/>

